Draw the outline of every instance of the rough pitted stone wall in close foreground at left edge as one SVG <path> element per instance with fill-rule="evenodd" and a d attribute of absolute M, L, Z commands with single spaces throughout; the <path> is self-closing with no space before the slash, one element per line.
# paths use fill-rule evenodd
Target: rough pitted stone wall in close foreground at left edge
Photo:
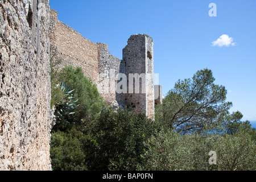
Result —
<path fill-rule="evenodd" d="M 50 170 L 49 1 L 0 1 L 0 170 Z"/>

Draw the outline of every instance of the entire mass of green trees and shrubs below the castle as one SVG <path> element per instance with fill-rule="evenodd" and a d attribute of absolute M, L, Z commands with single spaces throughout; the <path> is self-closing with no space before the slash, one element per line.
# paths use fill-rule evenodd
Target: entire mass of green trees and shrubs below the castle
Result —
<path fill-rule="evenodd" d="M 52 107 L 76 102 L 52 129 L 53 170 L 255 170 L 256 131 L 213 81 L 208 69 L 178 81 L 152 121 L 107 106 L 81 68 L 52 67 Z"/>

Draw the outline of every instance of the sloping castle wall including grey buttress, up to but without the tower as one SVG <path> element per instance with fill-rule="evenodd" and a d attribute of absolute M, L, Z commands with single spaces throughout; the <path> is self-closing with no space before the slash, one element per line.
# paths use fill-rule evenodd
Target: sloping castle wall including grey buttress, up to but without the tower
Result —
<path fill-rule="evenodd" d="M 115 103 L 115 88 L 121 59 L 111 55 L 108 45 L 93 43 L 79 32 L 57 19 L 57 11 L 51 10 L 51 44 L 57 48 L 65 64 L 81 67 L 85 76 L 97 85 L 98 91 L 109 105 Z"/>

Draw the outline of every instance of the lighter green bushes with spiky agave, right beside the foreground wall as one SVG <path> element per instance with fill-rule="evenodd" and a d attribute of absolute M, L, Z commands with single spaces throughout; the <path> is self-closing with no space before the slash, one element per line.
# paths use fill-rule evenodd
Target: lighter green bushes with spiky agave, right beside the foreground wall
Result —
<path fill-rule="evenodd" d="M 65 66 L 59 71 L 52 70 L 51 105 L 55 106 L 57 119 L 51 138 L 52 168 L 85 170 L 85 147 L 89 140 L 86 126 L 91 125 L 106 104 L 81 68 Z"/>

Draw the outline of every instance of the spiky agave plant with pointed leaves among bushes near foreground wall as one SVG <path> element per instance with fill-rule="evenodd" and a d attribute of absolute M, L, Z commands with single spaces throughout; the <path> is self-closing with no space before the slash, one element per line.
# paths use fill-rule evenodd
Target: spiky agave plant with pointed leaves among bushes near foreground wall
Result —
<path fill-rule="evenodd" d="M 63 94 L 63 98 L 55 105 L 56 123 L 68 123 L 66 118 L 68 115 L 75 114 L 75 109 L 79 106 L 77 105 L 78 100 L 75 100 L 74 90 L 71 90 L 70 86 L 64 82 L 61 86 L 58 84 L 56 87 L 59 87 Z"/>

